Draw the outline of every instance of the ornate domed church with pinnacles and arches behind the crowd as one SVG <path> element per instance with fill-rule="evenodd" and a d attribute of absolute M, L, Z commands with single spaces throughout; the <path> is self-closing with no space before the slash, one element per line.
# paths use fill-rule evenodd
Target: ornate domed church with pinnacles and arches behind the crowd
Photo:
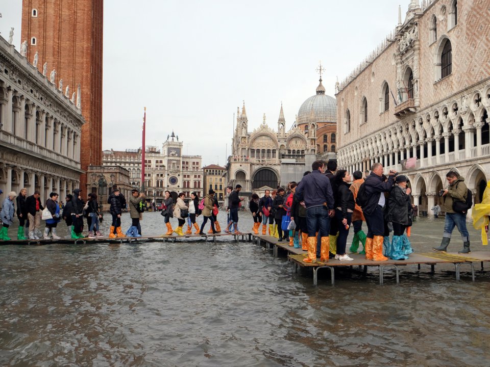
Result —
<path fill-rule="evenodd" d="M 322 132 L 322 140 L 327 134 L 328 140 L 331 140 L 331 134 L 335 139 L 335 98 L 325 94 L 321 78 L 316 94 L 302 104 L 296 123 L 288 131 L 281 105 L 277 131 L 265 123 L 264 116 L 260 126 L 249 132 L 243 104 L 241 112 L 237 110 L 227 182 L 233 187 L 240 184 L 242 193 L 246 195 L 273 190 L 289 181 L 299 181 L 305 171 L 311 170 L 317 154 L 324 150 L 328 152 L 330 145 L 320 146 L 318 143 L 318 131 Z"/>

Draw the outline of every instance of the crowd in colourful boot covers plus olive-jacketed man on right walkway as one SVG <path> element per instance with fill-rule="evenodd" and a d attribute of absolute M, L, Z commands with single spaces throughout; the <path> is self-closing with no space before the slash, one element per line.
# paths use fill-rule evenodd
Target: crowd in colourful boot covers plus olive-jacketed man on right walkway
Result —
<path fill-rule="evenodd" d="M 457 226 L 463 238 L 459 253 L 469 253 L 465 218 L 471 205 L 462 211 L 453 208 L 453 202 L 467 199 L 467 187 L 456 172 L 448 172 L 447 180 L 448 188 L 440 193 L 446 212 L 443 241 L 433 250 L 446 252 Z M 414 205 L 409 180 L 395 171 L 385 176 L 381 163 L 375 163 L 363 178 L 360 171 L 351 177 L 348 171 L 337 170 L 335 161 L 315 161 L 312 171 L 305 172 L 300 182 L 289 182 L 286 188 L 272 193 L 265 190 L 262 198 L 254 194 L 249 207 L 256 234 L 260 223 L 262 234 L 266 234 L 268 223 L 269 235 L 278 242 L 288 241 L 289 246 L 308 251 L 307 263 L 316 262 L 318 257 L 320 261 L 353 260 L 346 251 L 351 226 L 354 236 L 349 252 L 364 254 L 367 260 L 404 260 L 413 252 L 409 237 Z M 440 207 L 433 210 L 438 215 Z M 367 233 L 362 230 L 363 222 Z"/>

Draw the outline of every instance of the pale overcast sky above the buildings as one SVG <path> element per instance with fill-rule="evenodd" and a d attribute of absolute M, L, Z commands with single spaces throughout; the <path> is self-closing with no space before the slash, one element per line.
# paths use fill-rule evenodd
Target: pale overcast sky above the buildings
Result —
<path fill-rule="evenodd" d="M 22 1 L 2 3 L 0 32 L 8 39 L 14 27 L 19 49 Z M 409 3 L 401 3 L 403 19 Z M 289 129 L 315 94 L 320 60 L 334 96 L 336 76 L 343 80 L 396 27 L 399 4 L 105 1 L 103 148 L 140 147 L 146 106 L 146 145 L 161 146 L 174 130 L 184 154 L 224 165 L 242 100 L 249 131 L 264 113 L 277 130 L 281 102 Z"/>

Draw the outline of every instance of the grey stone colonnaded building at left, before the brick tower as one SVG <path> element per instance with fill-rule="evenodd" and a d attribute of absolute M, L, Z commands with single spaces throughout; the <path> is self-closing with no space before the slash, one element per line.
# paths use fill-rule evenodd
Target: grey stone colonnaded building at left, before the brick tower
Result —
<path fill-rule="evenodd" d="M 51 192 L 80 185 L 81 110 L 0 37 L 0 189 Z"/>

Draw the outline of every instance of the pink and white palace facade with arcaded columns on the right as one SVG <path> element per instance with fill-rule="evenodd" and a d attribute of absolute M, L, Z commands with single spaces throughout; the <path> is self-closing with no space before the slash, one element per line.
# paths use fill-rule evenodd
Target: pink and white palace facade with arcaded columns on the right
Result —
<path fill-rule="evenodd" d="M 450 170 L 480 202 L 490 178 L 487 13 L 483 0 L 412 0 L 403 22 L 400 11 L 396 29 L 336 86 L 339 167 L 403 172 L 429 215 Z"/>

